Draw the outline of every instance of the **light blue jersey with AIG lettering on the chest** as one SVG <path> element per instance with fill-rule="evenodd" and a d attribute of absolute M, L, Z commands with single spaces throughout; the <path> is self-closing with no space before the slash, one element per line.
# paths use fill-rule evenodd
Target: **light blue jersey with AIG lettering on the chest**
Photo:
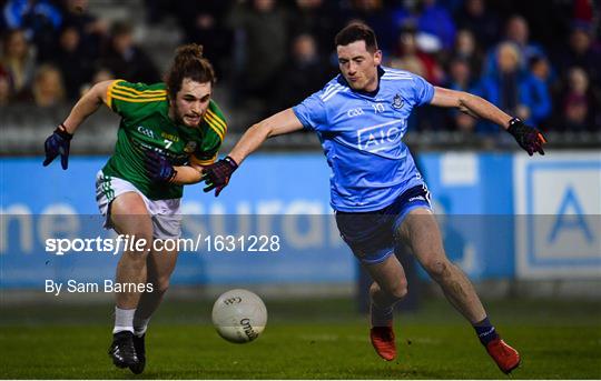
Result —
<path fill-rule="evenodd" d="M 353 91 L 339 74 L 294 107 L 306 129 L 317 132 L 332 168 L 335 210 L 383 209 L 405 190 L 424 184 L 402 141 L 414 107 L 428 103 L 434 88 L 423 78 L 381 67 L 375 94 Z"/>

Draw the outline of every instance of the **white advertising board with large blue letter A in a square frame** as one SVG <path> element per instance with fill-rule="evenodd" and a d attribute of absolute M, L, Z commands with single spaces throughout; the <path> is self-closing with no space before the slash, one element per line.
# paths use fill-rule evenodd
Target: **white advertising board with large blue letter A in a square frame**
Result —
<path fill-rule="evenodd" d="M 516 275 L 601 278 L 601 152 L 514 160 Z"/>

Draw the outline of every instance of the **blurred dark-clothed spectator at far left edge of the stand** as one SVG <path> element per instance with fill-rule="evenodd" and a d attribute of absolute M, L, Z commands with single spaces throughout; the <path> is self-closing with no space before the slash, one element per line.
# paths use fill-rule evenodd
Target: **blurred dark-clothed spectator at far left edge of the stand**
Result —
<path fill-rule="evenodd" d="M 29 90 L 36 70 L 33 52 L 22 29 L 12 29 L 4 34 L 0 67 L 9 77 L 10 98 L 21 99 Z"/>

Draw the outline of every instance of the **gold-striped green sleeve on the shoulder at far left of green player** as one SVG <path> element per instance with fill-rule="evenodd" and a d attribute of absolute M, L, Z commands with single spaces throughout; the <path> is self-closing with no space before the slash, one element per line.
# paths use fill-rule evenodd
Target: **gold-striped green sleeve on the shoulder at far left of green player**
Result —
<path fill-rule="evenodd" d="M 121 118 L 136 119 L 147 114 L 157 102 L 167 100 L 165 83 L 145 84 L 115 80 L 107 90 L 107 106 Z"/>

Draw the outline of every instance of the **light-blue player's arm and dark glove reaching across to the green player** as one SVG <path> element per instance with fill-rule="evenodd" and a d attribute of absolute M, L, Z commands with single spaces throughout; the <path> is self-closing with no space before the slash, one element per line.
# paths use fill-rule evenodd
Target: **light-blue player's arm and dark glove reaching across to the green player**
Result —
<path fill-rule="evenodd" d="M 203 170 L 203 180 L 207 184 L 204 191 L 209 192 L 215 189 L 215 197 L 219 195 L 221 190 L 229 182 L 231 173 L 234 173 L 244 159 L 256 151 L 265 140 L 302 129 L 303 123 L 300 123 L 292 109 L 280 111 L 254 124 L 246 130 L 240 140 L 236 143 L 236 147 L 229 152 L 229 156 L 214 164 L 207 166 Z"/>

